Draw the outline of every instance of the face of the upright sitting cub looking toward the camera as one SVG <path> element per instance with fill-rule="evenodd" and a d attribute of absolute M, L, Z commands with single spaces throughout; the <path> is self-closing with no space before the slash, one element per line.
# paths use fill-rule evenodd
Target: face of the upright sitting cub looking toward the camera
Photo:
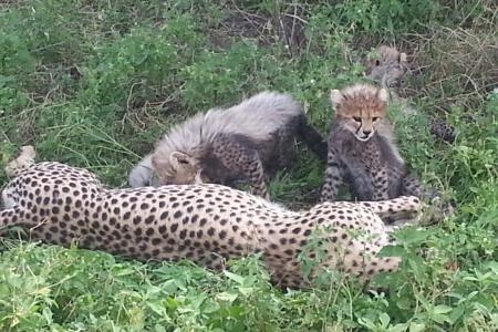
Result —
<path fill-rule="evenodd" d="M 370 84 L 332 90 L 330 100 L 334 121 L 361 142 L 373 137 L 386 115 L 387 92 Z"/>

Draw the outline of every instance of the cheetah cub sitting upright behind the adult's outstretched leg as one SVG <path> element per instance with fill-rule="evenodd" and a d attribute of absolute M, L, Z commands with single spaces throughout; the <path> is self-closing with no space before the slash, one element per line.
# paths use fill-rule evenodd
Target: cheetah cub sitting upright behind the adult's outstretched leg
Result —
<path fill-rule="evenodd" d="M 419 197 L 421 185 L 408 175 L 386 118 L 386 90 L 355 84 L 332 90 L 330 98 L 334 118 L 321 200 L 334 201 L 344 183 L 357 200 Z"/>

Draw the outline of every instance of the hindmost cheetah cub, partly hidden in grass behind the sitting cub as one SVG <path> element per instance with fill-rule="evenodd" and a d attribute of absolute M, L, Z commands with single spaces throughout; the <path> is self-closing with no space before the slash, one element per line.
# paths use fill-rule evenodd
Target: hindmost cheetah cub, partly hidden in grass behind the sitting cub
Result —
<path fill-rule="evenodd" d="M 400 108 L 405 114 L 416 113 L 408 101 L 400 97 L 397 92 L 402 79 L 409 72 L 409 66 L 406 53 L 381 45 L 376 49 L 375 55 L 367 59 L 365 70 L 365 75 L 386 89 L 390 93 L 390 102 L 400 104 Z M 428 122 L 430 134 L 449 143 L 455 141 L 455 128 L 445 121 L 430 116 Z"/>

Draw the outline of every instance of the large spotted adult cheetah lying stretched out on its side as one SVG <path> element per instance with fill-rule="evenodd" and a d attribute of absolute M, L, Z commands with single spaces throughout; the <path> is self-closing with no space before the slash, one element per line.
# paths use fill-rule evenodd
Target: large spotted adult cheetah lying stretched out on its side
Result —
<path fill-rule="evenodd" d="M 280 287 L 307 287 L 298 256 L 321 227 L 330 229 L 320 235 L 328 252 L 322 266 L 363 281 L 396 269 L 398 258 L 377 256 L 390 241 L 390 229 L 380 216 L 421 208 L 416 197 L 401 197 L 324 203 L 290 211 L 215 184 L 107 189 L 85 169 L 35 164 L 33 157 L 21 155 L 10 165 L 0 235 L 20 226 L 32 238 L 50 243 L 76 242 L 138 260 L 186 258 L 215 270 L 222 269 L 227 259 L 259 252 L 272 282 Z M 314 253 L 304 255 L 313 259 Z"/>

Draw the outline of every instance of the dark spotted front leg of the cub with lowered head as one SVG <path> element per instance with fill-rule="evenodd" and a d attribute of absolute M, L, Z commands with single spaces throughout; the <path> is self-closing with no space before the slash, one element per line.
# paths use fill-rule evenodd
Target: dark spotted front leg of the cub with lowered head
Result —
<path fill-rule="evenodd" d="M 241 135 L 218 135 L 212 152 L 225 167 L 249 179 L 253 195 L 270 198 L 263 166 L 253 142 Z"/>

